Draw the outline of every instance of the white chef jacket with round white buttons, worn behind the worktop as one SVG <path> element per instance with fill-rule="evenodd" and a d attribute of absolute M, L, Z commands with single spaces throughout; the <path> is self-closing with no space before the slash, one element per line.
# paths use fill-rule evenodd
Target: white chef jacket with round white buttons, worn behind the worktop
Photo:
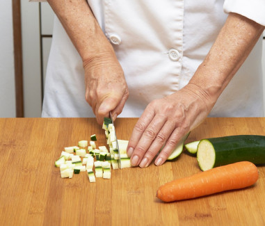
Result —
<path fill-rule="evenodd" d="M 130 95 L 120 117 L 140 117 L 153 99 L 183 88 L 216 40 L 226 13 L 239 13 L 265 26 L 264 0 L 88 3 L 125 72 Z M 261 45 L 259 40 L 210 116 L 263 116 Z M 95 117 L 85 99 L 81 57 L 57 18 L 42 117 Z"/>

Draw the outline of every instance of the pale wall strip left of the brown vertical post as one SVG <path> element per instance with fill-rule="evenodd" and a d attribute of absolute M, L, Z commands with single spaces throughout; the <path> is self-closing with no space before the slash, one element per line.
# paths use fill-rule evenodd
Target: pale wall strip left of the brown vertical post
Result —
<path fill-rule="evenodd" d="M 12 1 L 0 1 L 0 118 L 15 117 Z"/>

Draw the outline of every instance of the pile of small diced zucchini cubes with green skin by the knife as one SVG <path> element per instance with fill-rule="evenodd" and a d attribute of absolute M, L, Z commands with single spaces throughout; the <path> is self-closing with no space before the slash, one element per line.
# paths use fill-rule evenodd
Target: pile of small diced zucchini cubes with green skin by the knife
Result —
<path fill-rule="evenodd" d="M 111 179 L 111 166 L 113 170 L 118 169 L 118 148 L 120 147 L 120 168 L 131 167 L 129 156 L 127 156 L 128 140 L 115 140 L 115 127 L 111 119 L 104 118 L 102 129 L 105 130 L 106 146 L 97 147 L 96 134 L 90 136 L 90 141 L 80 140 L 77 146 L 65 147 L 61 156 L 55 161 L 55 166 L 60 168 L 62 178 L 72 178 L 74 174 L 87 172 L 90 182 L 95 182 L 96 177 Z"/>

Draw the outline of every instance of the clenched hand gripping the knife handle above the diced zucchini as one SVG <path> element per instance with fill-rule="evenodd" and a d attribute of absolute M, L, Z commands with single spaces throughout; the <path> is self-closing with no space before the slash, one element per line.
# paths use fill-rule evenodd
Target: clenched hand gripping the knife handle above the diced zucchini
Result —
<path fill-rule="evenodd" d="M 113 120 L 122 112 L 129 91 L 114 51 L 107 51 L 83 62 L 86 101 L 93 108 L 99 124 L 112 112 Z"/>

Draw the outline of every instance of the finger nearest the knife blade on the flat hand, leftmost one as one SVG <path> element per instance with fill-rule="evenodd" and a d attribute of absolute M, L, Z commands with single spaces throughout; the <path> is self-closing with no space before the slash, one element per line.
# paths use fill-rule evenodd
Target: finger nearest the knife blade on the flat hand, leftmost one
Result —
<path fill-rule="evenodd" d="M 128 156 L 131 157 L 131 155 L 133 154 L 134 148 L 138 144 L 141 136 L 143 135 L 145 128 L 147 128 L 148 124 L 150 124 L 153 118 L 154 118 L 154 111 L 153 109 L 150 109 L 147 106 L 143 114 L 140 116 L 140 118 L 136 122 L 134 129 L 131 133 L 131 138 L 129 138 L 129 143 L 127 147 Z"/>

